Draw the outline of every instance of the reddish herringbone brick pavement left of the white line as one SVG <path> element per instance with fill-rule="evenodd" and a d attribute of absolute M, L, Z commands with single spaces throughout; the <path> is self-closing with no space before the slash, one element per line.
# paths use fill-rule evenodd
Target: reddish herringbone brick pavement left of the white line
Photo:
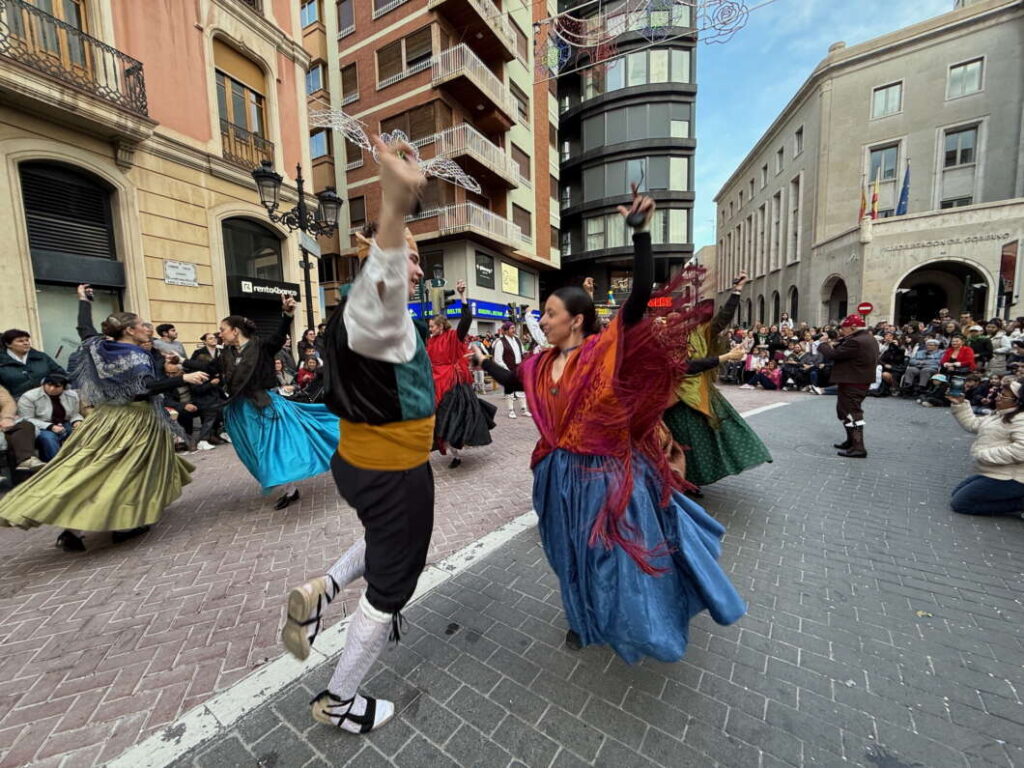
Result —
<path fill-rule="evenodd" d="M 431 561 L 530 509 L 532 422 L 502 408 L 493 434 L 458 470 L 433 460 Z M 144 538 L 90 534 L 69 555 L 52 528 L 0 528 L 0 768 L 99 765 L 279 656 L 282 596 L 359 532 L 330 474 L 275 512 L 230 446 L 189 460 L 194 482 Z"/>

